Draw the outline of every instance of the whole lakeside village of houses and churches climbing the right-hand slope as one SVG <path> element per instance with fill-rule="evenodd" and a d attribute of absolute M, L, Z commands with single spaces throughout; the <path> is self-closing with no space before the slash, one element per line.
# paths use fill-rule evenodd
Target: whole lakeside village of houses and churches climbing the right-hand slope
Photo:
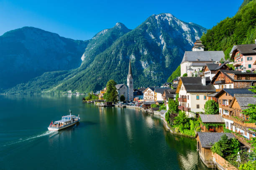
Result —
<path fill-rule="evenodd" d="M 175 121 L 180 114 L 184 113 L 187 120 L 195 121 L 195 125 L 199 121 L 200 128 L 189 135 L 197 139 L 197 150 L 203 163 L 208 168 L 228 166 L 236 169 L 223 157 L 213 153 L 211 148 L 225 134 L 227 138 L 236 138 L 246 152 L 253 151 L 252 139 L 256 137 L 256 124 L 243 111 L 249 108 L 248 105 L 256 103 L 255 93 L 250 91 L 256 83 L 256 40 L 255 44 L 234 45 L 230 59 L 225 60 L 223 51 L 204 51 L 202 42 L 196 40 L 192 50 L 184 52 L 180 77 L 161 87 L 138 89 L 133 89 L 130 60 L 127 85 L 117 84 L 115 88 L 117 100 L 123 96 L 125 101 L 134 104 L 122 102 L 118 105 L 133 105 L 159 114 L 167 129 L 183 135 L 188 135 L 184 130 L 192 129 L 184 128 L 182 131 L 181 127 L 175 128 Z M 96 93 L 98 101 L 105 101 L 106 91 L 107 87 Z M 169 102 L 175 101 L 176 111 L 169 108 L 173 107 Z M 210 105 L 216 105 L 215 114 L 206 112 L 209 105 L 207 101 L 211 102 Z"/>

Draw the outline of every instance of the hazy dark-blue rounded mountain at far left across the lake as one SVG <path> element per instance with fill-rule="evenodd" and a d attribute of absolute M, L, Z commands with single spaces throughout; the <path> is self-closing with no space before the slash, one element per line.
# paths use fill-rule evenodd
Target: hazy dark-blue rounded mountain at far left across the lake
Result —
<path fill-rule="evenodd" d="M 0 90 L 47 71 L 79 67 L 87 44 L 33 27 L 6 32 L 0 36 Z"/>

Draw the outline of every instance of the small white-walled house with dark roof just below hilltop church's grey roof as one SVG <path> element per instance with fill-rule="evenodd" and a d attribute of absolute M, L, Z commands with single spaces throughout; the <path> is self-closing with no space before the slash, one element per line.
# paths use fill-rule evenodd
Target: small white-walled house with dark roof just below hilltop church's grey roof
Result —
<path fill-rule="evenodd" d="M 202 72 L 204 73 L 205 77 L 209 77 L 210 80 L 212 80 L 218 70 L 230 70 L 230 67 L 228 67 L 225 63 L 208 63 L 205 65 Z"/>

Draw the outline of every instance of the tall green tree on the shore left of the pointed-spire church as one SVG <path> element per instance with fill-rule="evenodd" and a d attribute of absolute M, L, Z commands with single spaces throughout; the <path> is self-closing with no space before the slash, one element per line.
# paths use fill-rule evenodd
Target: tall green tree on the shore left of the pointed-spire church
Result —
<path fill-rule="evenodd" d="M 116 82 L 114 80 L 109 80 L 107 82 L 107 91 L 104 94 L 104 99 L 107 102 L 117 102 L 118 92 L 116 91 Z"/>

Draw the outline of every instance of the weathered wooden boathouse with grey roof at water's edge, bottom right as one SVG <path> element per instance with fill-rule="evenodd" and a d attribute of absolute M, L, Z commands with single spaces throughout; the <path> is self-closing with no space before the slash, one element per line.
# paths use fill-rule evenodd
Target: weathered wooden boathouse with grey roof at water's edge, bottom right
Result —
<path fill-rule="evenodd" d="M 208 168 L 215 168 L 211 148 L 212 145 L 218 142 L 224 134 L 227 135 L 229 139 L 235 137 L 231 133 L 197 132 L 197 151 L 200 159 Z"/>

